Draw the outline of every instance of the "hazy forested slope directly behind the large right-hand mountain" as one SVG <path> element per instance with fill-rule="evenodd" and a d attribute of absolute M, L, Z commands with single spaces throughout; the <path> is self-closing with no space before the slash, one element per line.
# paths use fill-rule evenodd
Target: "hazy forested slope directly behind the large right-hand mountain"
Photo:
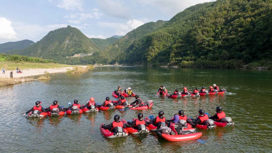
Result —
<path fill-rule="evenodd" d="M 124 37 L 106 47 L 104 53 L 110 55 L 111 63 L 115 63 L 115 61 L 125 63 L 125 50 L 127 50 L 136 39 L 139 39 L 145 34 L 158 29 L 164 23 L 166 23 L 166 21 L 162 20 L 145 23 L 131 32 L 128 32 Z"/>

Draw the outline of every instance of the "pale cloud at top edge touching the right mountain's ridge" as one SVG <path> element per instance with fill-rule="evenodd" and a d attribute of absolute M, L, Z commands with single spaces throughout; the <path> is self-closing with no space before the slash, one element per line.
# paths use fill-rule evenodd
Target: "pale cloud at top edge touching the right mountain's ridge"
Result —
<path fill-rule="evenodd" d="M 164 13 L 167 13 L 171 16 L 176 15 L 179 12 L 182 12 L 185 8 L 190 6 L 204 3 L 204 2 L 211 2 L 214 0 L 137 0 L 141 6 L 155 6 L 156 8 L 160 9 Z"/>

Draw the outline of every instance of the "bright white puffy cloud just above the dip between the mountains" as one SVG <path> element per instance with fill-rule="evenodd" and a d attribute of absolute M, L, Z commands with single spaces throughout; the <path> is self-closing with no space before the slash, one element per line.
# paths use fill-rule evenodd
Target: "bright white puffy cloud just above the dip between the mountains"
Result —
<path fill-rule="evenodd" d="M 110 23 L 110 22 L 98 22 L 98 25 L 102 27 L 109 27 L 115 30 L 116 35 L 124 36 L 126 33 L 130 32 L 131 30 L 143 25 L 144 22 L 141 20 L 133 19 L 132 21 L 129 20 L 125 23 Z"/>

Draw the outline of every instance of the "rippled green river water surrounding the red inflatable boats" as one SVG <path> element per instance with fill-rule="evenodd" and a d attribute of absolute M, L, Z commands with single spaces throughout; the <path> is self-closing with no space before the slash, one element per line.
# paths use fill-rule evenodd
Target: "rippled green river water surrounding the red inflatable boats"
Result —
<path fill-rule="evenodd" d="M 0 87 L 0 152 L 271 152 L 272 151 L 272 71 L 232 69 L 183 69 L 149 67 L 96 67 L 81 74 L 51 74 L 47 81 L 24 82 Z M 175 88 L 188 90 L 216 84 L 227 94 L 199 98 L 168 99 L 156 95 L 161 85 L 169 93 Z M 78 99 L 86 104 L 90 97 L 102 103 L 106 96 L 121 85 L 131 87 L 143 101 L 152 100 L 149 110 L 111 110 L 80 115 L 64 115 L 31 119 L 22 114 L 36 101 L 44 108 L 54 100 L 67 107 Z M 133 98 L 126 98 L 130 103 Z M 109 124 L 113 116 L 121 119 L 156 116 L 160 110 L 168 119 L 183 109 L 187 116 L 195 116 L 199 109 L 215 113 L 223 107 L 235 122 L 233 127 L 203 132 L 198 140 L 168 142 L 150 132 L 148 135 L 128 135 L 108 139 L 100 132 L 100 124 Z M 8 109 L 7 109 L 8 108 Z"/>

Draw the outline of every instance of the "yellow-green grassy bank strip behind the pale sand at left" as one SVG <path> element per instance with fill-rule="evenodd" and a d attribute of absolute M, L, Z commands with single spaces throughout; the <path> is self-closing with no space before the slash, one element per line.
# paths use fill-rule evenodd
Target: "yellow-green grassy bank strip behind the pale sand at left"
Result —
<path fill-rule="evenodd" d="M 20 70 L 25 69 L 36 69 L 36 68 L 64 68 L 64 67 L 70 67 L 71 65 L 66 64 L 57 64 L 57 63 L 28 63 L 28 62 L 22 62 L 22 63 L 15 63 L 15 62 L 0 62 L 0 68 L 5 68 L 5 70 L 16 70 L 17 66 Z"/>

